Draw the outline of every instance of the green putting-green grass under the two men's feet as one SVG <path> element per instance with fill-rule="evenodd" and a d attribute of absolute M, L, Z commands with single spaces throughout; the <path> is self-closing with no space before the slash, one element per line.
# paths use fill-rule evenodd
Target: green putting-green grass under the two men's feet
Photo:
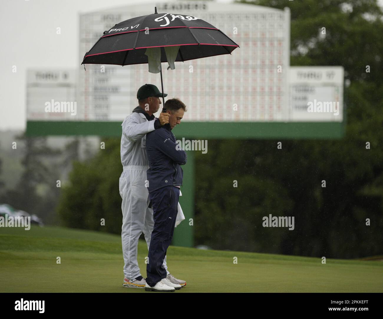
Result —
<path fill-rule="evenodd" d="M 138 245 L 146 277 L 147 246 Z M 61 264 L 56 258 L 61 257 Z M 237 257 L 238 263 L 233 263 Z M 170 246 L 185 292 L 383 292 L 381 260 L 342 260 Z M 0 292 L 152 293 L 124 288 L 121 236 L 60 227 L 0 228 Z"/>

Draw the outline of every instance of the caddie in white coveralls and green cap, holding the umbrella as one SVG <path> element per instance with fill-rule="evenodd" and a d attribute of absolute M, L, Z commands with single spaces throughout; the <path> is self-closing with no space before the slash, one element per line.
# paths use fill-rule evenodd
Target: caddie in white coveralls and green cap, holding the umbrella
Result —
<path fill-rule="evenodd" d="M 121 231 L 124 257 L 124 287 L 145 288 L 145 278 L 141 276 L 137 263 L 137 244 L 142 232 L 147 247 L 154 227 L 153 209 L 149 205 L 146 170 L 149 168 L 145 142 L 146 133 L 157 130 L 169 122 L 169 114 L 161 113 L 155 119 L 161 104 L 162 93 L 157 86 L 145 84 L 137 91 L 138 104 L 133 113 L 127 116 L 122 125 L 121 163 L 123 172 L 119 178 L 119 193 L 122 198 L 123 224 Z M 167 96 L 167 94 L 164 94 Z M 150 207 L 149 207 L 150 206 Z M 169 282 L 186 285 L 167 271 L 166 258 L 163 264 Z"/>

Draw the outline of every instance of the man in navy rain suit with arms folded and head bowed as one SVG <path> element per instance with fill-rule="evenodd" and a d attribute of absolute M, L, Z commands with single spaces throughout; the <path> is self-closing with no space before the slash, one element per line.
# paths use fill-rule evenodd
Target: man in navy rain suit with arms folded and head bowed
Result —
<path fill-rule="evenodd" d="M 175 219 L 178 212 L 178 197 L 182 186 L 183 171 L 180 165 L 186 164 L 185 151 L 178 150 L 171 130 L 181 123 L 186 106 L 179 99 L 165 102 L 169 114 L 169 124 L 161 126 L 146 135 L 146 153 L 150 168 L 147 170 L 149 198 L 153 204 L 154 228 L 149 246 L 146 266 L 147 291 L 174 291 L 181 285 L 167 280 L 163 266 L 166 251 L 172 242 Z"/>

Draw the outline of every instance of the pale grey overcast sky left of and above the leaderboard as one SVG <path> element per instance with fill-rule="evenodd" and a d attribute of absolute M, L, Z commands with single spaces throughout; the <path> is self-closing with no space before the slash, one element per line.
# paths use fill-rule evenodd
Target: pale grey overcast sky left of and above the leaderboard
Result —
<path fill-rule="evenodd" d="M 0 130 L 26 127 L 26 70 L 77 69 L 78 14 L 133 5 L 133 0 L 2 0 Z M 137 3 L 164 1 L 139 0 Z M 216 0 L 229 3 L 232 0 Z M 379 0 L 381 5 L 383 0 Z M 107 3 L 107 5 L 105 5 Z M 56 34 L 56 28 L 61 34 Z M 85 53 L 85 52 L 84 52 Z M 16 65 L 17 72 L 12 72 Z"/>

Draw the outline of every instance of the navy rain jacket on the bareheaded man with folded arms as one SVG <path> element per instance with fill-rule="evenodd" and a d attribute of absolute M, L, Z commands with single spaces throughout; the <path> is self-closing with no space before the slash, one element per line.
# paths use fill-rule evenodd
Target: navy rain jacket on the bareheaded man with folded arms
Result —
<path fill-rule="evenodd" d="M 176 140 L 169 124 L 146 134 L 146 154 L 149 169 L 149 193 L 165 186 L 181 186 L 183 171 L 180 165 L 187 161 L 186 152 L 177 150 Z"/>

